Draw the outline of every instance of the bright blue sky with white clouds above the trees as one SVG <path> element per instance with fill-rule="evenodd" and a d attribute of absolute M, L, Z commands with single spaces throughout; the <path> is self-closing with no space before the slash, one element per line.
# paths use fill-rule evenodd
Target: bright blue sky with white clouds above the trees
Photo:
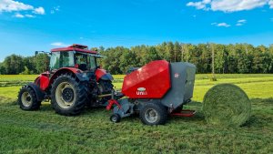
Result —
<path fill-rule="evenodd" d="M 0 61 L 68 46 L 273 44 L 273 0 L 0 0 Z"/>

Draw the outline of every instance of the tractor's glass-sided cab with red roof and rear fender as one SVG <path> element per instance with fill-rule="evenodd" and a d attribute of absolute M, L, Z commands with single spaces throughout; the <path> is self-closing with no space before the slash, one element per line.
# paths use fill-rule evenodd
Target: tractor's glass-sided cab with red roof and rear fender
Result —
<path fill-rule="evenodd" d="M 105 69 L 101 69 L 97 65 L 96 59 L 100 57 L 103 56 L 82 45 L 74 44 L 54 48 L 51 50 L 49 74 L 54 76 L 60 70 L 69 69 L 75 74 L 84 74 L 88 78 L 96 79 L 96 81 L 100 79 L 113 80 L 113 77 Z"/>

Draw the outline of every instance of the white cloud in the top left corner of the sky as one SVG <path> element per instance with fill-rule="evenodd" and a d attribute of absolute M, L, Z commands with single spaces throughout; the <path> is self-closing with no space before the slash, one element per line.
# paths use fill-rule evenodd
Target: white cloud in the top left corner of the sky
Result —
<path fill-rule="evenodd" d="M 44 7 L 35 8 L 33 5 L 27 5 L 22 2 L 18 2 L 14 0 L 0 0 L 0 13 L 1 12 L 17 12 L 17 14 L 19 14 L 18 12 L 21 12 L 21 11 L 33 11 L 33 13 L 35 14 L 45 15 Z M 23 15 L 23 16 L 26 16 L 26 15 Z M 30 15 L 27 15 L 26 17 L 30 17 Z"/>

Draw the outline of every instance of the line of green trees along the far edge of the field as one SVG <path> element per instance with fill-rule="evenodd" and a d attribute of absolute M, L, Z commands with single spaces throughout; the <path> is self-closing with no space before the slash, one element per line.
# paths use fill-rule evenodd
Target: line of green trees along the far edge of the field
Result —
<path fill-rule="evenodd" d="M 164 42 L 157 46 L 93 47 L 105 58 L 100 65 L 111 74 L 125 74 L 129 67 L 142 67 L 150 61 L 189 62 L 197 66 L 197 73 L 211 73 L 214 59 L 215 73 L 273 73 L 273 45 L 249 44 L 183 44 Z M 47 63 L 46 63 L 47 61 Z M 48 58 L 36 56 L 7 56 L 0 64 L 0 74 L 39 74 L 46 70 Z"/>

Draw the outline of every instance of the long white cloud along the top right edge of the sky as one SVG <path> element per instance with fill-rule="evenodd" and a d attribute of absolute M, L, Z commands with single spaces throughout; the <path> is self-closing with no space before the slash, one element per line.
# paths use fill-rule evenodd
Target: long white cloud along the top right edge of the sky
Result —
<path fill-rule="evenodd" d="M 273 8 L 273 0 L 202 0 L 187 3 L 187 6 L 194 6 L 197 9 L 223 12 L 251 10 L 264 5 Z"/>

